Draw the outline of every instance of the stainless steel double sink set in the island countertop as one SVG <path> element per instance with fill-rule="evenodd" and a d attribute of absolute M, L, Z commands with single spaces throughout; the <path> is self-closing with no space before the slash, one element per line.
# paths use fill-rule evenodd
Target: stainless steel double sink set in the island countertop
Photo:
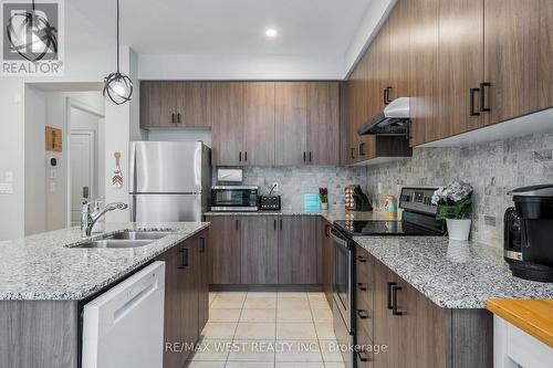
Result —
<path fill-rule="evenodd" d="M 70 244 L 67 248 L 139 248 L 148 245 L 167 235 L 175 234 L 173 230 L 123 230 L 96 240 Z"/>

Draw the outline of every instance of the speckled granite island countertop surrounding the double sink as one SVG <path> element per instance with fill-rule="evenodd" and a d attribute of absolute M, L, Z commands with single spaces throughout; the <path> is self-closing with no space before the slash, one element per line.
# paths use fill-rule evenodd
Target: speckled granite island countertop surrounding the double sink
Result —
<path fill-rule="evenodd" d="M 2 241 L 0 301 L 83 299 L 207 227 L 207 222 L 106 223 L 104 234 L 125 229 L 176 231 L 133 249 L 66 248 L 84 240 L 79 228 Z"/>

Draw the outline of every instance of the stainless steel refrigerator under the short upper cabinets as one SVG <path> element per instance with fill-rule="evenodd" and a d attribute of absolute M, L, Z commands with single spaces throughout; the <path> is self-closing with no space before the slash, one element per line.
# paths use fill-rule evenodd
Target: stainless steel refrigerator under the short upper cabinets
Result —
<path fill-rule="evenodd" d="M 211 186 L 210 155 L 201 141 L 132 141 L 131 220 L 201 221 Z"/>

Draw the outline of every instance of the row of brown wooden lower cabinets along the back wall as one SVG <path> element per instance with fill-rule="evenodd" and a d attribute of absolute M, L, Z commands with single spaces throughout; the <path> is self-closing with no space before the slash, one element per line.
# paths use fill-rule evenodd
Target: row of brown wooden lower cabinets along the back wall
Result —
<path fill-rule="evenodd" d="M 209 215 L 213 285 L 316 285 L 317 217 Z"/>

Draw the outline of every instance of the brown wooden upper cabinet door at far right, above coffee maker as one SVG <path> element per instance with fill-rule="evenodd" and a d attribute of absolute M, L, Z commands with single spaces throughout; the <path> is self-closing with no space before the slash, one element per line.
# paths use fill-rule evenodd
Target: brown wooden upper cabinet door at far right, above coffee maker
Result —
<path fill-rule="evenodd" d="M 486 0 L 483 24 L 487 123 L 553 106 L 553 2 Z"/>

